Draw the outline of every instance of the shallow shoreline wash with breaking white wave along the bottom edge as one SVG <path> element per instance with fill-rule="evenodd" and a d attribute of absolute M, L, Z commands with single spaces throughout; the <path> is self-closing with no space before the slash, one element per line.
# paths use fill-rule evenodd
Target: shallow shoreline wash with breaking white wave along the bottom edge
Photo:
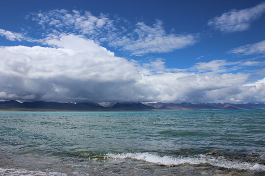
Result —
<path fill-rule="evenodd" d="M 142 157 L 145 155 L 146 157 Z M 149 156 L 149 157 L 148 157 Z M 152 157 L 150 157 L 152 156 Z M 15 156 L 0 153 L 0 172 L 5 176 L 13 175 L 33 175 L 33 176 L 114 176 L 119 174 L 126 176 L 135 169 L 132 169 L 132 165 L 139 167 L 135 176 L 143 176 L 147 171 L 141 170 L 141 168 L 149 168 L 159 170 L 159 174 L 163 172 L 169 172 L 171 174 L 175 172 L 181 172 L 180 176 L 192 174 L 199 176 L 201 173 L 207 173 L 208 175 L 257 175 L 264 174 L 264 165 L 241 162 L 229 161 L 222 157 L 212 157 L 202 155 L 200 157 L 174 157 L 174 156 L 159 156 L 151 153 L 122 153 L 122 154 L 110 154 L 109 159 L 89 159 L 83 161 L 68 161 L 63 162 L 59 157 L 46 157 L 36 155 L 21 155 L 19 156 L 23 161 L 19 160 Z M 41 158 L 40 158 L 41 157 Z M 39 159 L 38 159 L 39 158 Z M 36 160 L 37 159 L 37 160 Z M 25 161 L 25 163 L 24 163 Z M 27 166 L 27 164 L 30 166 Z M 170 163 L 172 165 L 170 165 Z M 41 169 L 34 169 L 35 167 Z M 94 168 L 103 168 L 107 170 L 107 173 L 102 173 Z M 122 170 L 116 170 L 116 167 L 123 168 Z M 245 168 L 244 168 L 245 167 Z M 86 169 L 85 169 L 86 168 Z M 175 172 L 170 172 L 168 169 L 173 168 Z M 85 170 L 83 170 L 85 169 Z M 87 170 L 88 169 L 88 170 Z M 170 169 L 172 170 L 172 169 Z M 135 170 L 136 171 L 136 170 Z M 114 172 L 114 173 L 113 173 Z M 116 173 L 117 172 L 117 173 Z M 149 171 L 148 171 L 149 172 Z M 218 175 L 219 176 L 219 175 Z"/>

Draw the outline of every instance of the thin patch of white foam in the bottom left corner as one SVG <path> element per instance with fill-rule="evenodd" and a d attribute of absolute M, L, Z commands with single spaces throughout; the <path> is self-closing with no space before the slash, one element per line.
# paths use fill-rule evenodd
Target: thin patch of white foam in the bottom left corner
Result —
<path fill-rule="evenodd" d="M 29 171 L 27 169 L 0 168 L 1 176 L 67 176 L 56 172 Z"/>

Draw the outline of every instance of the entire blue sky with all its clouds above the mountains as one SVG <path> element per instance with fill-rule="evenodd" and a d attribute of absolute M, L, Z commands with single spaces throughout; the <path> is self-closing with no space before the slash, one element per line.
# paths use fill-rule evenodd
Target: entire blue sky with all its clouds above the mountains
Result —
<path fill-rule="evenodd" d="M 265 1 L 0 0 L 0 100 L 265 103 Z"/>

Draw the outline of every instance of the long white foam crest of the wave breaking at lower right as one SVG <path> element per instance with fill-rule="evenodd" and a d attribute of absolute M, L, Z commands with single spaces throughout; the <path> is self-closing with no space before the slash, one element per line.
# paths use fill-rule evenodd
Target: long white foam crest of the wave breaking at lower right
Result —
<path fill-rule="evenodd" d="M 258 163 L 240 163 L 234 161 L 227 161 L 223 157 L 212 157 L 203 154 L 194 157 L 173 157 L 173 156 L 159 156 L 150 153 L 122 153 L 122 154 L 108 154 L 109 157 L 117 159 L 132 158 L 137 160 L 144 160 L 159 165 L 176 166 L 181 164 L 210 164 L 212 166 L 224 167 L 228 169 L 251 170 L 251 171 L 265 171 L 265 165 Z"/>

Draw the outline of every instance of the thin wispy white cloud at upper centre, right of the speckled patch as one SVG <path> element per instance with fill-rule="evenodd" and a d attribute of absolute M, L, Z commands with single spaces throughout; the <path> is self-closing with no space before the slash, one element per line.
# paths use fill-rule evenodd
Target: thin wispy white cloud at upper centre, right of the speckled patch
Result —
<path fill-rule="evenodd" d="M 111 42 L 110 45 L 122 47 L 123 50 L 130 51 L 134 55 L 142 55 L 146 53 L 170 52 L 197 42 L 196 37 L 191 34 L 166 34 L 161 21 L 158 21 L 153 27 L 143 22 L 138 22 L 136 26 L 134 33 L 120 37 Z M 133 38 L 133 34 L 137 35 L 137 37 Z"/>

